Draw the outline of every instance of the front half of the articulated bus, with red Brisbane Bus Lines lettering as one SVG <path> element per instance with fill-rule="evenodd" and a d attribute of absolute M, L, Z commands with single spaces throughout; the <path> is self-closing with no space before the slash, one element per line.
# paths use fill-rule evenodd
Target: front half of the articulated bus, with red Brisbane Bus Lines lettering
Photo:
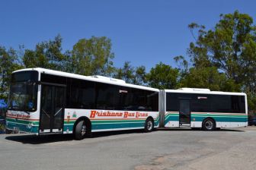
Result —
<path fill-rule="evenodd" d="M 159 125 L 158 89 L 43 68 L 11 75 L 6 128 L 34 134 L 145 129 Z"/>

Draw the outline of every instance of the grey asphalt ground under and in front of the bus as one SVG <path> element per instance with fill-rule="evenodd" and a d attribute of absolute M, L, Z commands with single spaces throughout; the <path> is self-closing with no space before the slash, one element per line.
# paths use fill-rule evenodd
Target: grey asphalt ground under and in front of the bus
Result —
<path fill-rule="evenodd" d="M 256 169 L 256 128 L 0 135 L 0 169 Z"/>

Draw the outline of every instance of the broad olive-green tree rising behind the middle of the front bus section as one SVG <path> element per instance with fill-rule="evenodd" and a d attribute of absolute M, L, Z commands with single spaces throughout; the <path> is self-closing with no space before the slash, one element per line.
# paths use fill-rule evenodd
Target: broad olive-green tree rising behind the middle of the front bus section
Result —
<path fill-rule="evenodd" d="M 80 39 L 73 46 L 68 71 L 82 75 L 110 76 L 114 73 L 111 41 L 105 36 Z"/>

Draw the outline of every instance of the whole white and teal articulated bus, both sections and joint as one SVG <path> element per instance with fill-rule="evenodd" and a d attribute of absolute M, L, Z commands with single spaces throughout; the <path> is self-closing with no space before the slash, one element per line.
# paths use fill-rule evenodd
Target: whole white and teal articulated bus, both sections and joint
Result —
<path fill-rule="evenodd" d="M 74 134 L 81 140 L 96 131 L 242 127 L 247 112 L 245 93 L 158 90 L 109 77 L 27 68 L 11 75 L 6 128 Z"/>

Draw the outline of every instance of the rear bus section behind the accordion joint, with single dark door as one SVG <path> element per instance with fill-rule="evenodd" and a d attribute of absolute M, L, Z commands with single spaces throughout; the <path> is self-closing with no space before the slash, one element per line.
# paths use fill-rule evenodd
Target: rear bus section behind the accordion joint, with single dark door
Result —
<path fill-rule="evenodd" d="M 162 90 L 162 127 L 216 128 L 245 127 L 248 124 L 245 93 L 181 88 Z"/>

